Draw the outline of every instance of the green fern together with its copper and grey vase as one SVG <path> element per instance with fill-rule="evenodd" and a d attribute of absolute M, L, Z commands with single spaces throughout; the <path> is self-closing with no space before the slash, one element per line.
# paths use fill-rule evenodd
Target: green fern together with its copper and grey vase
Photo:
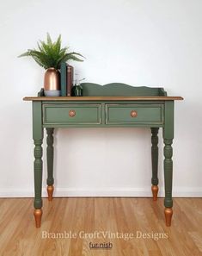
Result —
<path fill-rule="evenodd" d="M 22 53 L 18 57 L 32 57 L 40 66 L 46 69 L 44 76 L 44 92 L 45 96 L 60 95 L 60 73 L 59 68 L 61 62 L 68 60 L 83 61 L 79 57 L 83 57 L 80 53 L 69 52 L 69 47 L 61 47 L 61 35 L 58 40 L 52 42 L 50 34 L 47 33 L 45 41 L 38 42 L 38 49 L 28 49 L 26 53 Z"/>

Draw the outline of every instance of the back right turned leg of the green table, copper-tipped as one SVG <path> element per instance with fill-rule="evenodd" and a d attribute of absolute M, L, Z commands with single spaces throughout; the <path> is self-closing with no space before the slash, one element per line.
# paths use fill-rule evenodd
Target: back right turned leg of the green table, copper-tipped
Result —
<path fill-rule="evenodd" d="M 153 200 L 157 200 L 158 194 L 158 129 L 151 128 L 151 163 L 152 163 L 152 178 L 151 178 L 151 191 Z"/>

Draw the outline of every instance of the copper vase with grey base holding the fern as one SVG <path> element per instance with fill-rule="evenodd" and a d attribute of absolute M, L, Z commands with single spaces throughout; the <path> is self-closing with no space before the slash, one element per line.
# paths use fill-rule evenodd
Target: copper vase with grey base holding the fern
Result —
<path fill-rule="evenodd" d="M 45 72 L 44 93 L 45 96 L 60 95 L 60 73 L 54 67 L 48 68 Z"/>

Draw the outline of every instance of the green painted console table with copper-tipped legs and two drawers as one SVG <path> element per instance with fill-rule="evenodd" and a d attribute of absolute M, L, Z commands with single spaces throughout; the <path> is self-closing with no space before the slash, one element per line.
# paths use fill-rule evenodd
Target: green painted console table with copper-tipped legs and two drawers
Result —
<path fill-rule="evenodd" d="M 34 139 L 34 217 L 40 227 L 42 216 L 42 143 L 44 128 L 47 134 L 47 193 L 53 193 L 53 132 L 54 128 L 136 128 L 151 129 L 151 190 L 153 200 L 158 192 L 158 129 L 162 128 L 164 142 L 164 212 L 166 225 L 173 215 L 172 176 L 174 139 L 174 100 L 162 88 L 133 87 L 127 84 L 83 83 L 83 97 L 24 97 L 33 102 Z"/>

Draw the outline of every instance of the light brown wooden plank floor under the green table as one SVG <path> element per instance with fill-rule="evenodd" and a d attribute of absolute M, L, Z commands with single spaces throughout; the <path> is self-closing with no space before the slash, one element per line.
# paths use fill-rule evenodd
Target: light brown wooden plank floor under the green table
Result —
<path fill-rule="evenodd" d="M 202 255 L 202 198 L 174 199 L 170 228 L 163 209 L 162 198 L 44 198 L 42 225 L 35 228 L 33 199 L 2 198 L 0 255 Z"/>

